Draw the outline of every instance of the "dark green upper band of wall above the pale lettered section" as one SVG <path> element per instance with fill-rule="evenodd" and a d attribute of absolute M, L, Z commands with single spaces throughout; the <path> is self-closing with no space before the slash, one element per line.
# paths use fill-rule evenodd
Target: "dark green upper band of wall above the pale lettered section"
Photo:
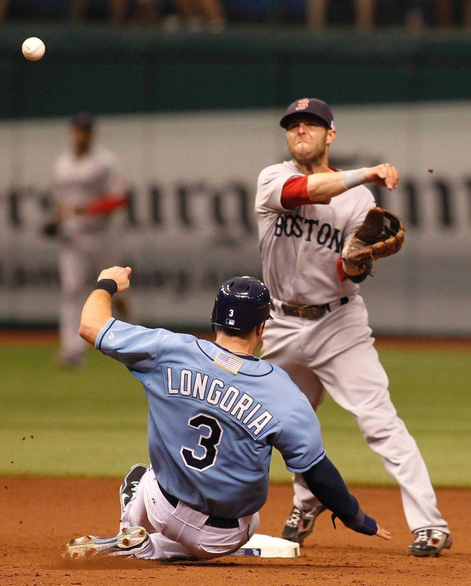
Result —
<path fill-rule="evenodd" d="M 471 37 L 455 32 L 299 28 L 166 33 L 34 25 L 39 63 L 19 50 L 31 25 L 0 28 L 0 118 L 469 98 Z"/>

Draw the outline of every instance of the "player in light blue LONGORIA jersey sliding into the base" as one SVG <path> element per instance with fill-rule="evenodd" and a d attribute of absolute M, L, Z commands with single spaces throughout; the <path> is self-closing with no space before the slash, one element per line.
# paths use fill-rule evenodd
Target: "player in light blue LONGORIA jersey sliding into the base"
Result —
<path fill-rule="evenodd" d="M 149 404 L 151 466 L 121 486 L 121 532 L 84 536 L 70 554 L 209 560 L 233 553 L 258 527 L 272 447 L 350 529 L 390 539 L 365 515 L 326 456 L 319 421 L 288 375 L 254 356 L 270 316 L 267 287 L 225 281 L 214 302 L 216 342 L 117 321 L 111 296 L 131 268 L 101 272 L 84 305 L 80 335 L 128 367 Z"/>

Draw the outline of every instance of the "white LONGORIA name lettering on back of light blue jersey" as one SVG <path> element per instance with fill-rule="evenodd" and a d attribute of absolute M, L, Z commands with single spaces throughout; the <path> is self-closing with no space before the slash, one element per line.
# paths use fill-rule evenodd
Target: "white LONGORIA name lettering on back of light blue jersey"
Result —
<path fill-rule="evenodd" d="M 166 364 L 162 369 L 167 396 L 188 397 L 204 401 L 212 407 L 219 407 L 221 411 L 231 415 L 231 418 L 250 435 L 257 437 L 270 422 L 273 424 L 278 421 L 253 397 L 227 381 L 213 377 L 210 373 Z"/>

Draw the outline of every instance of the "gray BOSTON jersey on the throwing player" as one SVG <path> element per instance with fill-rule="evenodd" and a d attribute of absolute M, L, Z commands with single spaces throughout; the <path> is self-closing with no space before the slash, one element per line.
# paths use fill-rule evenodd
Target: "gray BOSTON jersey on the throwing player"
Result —
<path fill-rule="evenodd" d="M 264 169 L 258 178 L 255 215 L 263 260 L 263 280 L 272 298 L 294 305 L 319 305 L 355 295 L 359 285 L 340 281 L 337 260 L 360 226 L 373 194 L 363 185 L 332 197 L 328 205 L 285 209 L 283 186 L 303 177 L 294 161 Z"/>

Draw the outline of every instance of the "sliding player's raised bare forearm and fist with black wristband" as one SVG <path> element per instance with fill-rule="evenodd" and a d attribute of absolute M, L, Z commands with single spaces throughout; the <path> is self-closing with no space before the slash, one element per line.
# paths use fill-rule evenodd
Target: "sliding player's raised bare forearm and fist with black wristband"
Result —
<path fill-rule="evenodd" d="M 111 318 L 112 294 L 129 287 L 131 272 L 131 267 L 111 267 L 100 272 L 97 288 L 85 302 L 80 319 L 79 335 L 89 344 L 95 344 L 98 333 Z"/>

